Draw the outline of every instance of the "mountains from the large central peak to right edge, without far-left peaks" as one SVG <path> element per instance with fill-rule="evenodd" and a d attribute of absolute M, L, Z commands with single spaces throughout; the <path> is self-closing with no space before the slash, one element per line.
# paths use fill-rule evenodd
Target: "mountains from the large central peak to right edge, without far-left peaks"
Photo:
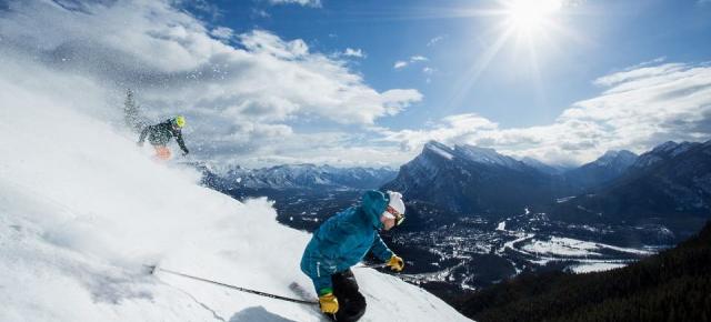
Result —
<path fill-rule="evenodd" d="M 382 189 L 454 215 L 538 211 L 578 223 L 657 223 L 695 232 L 711 204 L 711 141 L 665 142 L 637 155 L 608 151 L 563 170 L 492 149 L 428 142 Z M 417 212 L 417 211 L 415 211 Z"/>

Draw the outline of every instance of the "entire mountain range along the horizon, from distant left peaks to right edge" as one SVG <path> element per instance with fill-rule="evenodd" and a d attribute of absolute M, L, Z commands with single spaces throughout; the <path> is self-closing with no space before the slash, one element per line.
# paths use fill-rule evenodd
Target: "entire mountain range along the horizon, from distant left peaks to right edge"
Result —
<path fill-rule="evenodd" d="M 709 218 L 710 157 L 711 141 L 665 142 L 641 155 L 608 151 L 567 169 L 531 158 L 517 160 L 493 149 L 430 141 L 399 171 L 314 164 L 197 165 L 207 185 L 248 191 L 246 195 L 268 190 L 400 191 L 421 223 L 431 221 L 428 215 L 499 220 L 538 212 L 571 223 L 658 224 L 683 238 Z M 352 195 L 357 194 L 348 198 Z"/>

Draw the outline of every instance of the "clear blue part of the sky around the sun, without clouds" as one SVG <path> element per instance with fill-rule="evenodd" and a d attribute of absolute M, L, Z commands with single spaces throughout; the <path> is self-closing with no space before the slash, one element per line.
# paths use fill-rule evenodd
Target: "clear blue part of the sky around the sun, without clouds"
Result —
<path fill-rule="evenodd" d="M 711 6 L 695 0 L 577 1 L 555 13 L 564 32 L 542 30 L 545 40 L 533 43 L 540 50 L 538 71 L 527 49 L 517 48 L 510 39 L 470 87 L 458 88 L 473 77 L 468 71 L 500 37 L 505 14 L 454 16 L 497 10 L 500 2 L 211 3 L 220 12 L 214 19 L 199 10 L 197 14 L 238 33 L 259 28 L 286 39 L 303 39 L 321 52 L 361 50 L 365 57 L 351 60 L 351 67 L 370 85 L 381 91 L 418 89 L 424 95 L 422 102 L 381 120 L 393 129 L 423 127 L 467 112 L 507 128 L 547 124 L 571 103 L 599 93 L 592 80 L 600 76 L 658 58 L 700 62 L 711 57 Z M 428 60 L 393 69 L 395 61 L 415 56 Z"/>

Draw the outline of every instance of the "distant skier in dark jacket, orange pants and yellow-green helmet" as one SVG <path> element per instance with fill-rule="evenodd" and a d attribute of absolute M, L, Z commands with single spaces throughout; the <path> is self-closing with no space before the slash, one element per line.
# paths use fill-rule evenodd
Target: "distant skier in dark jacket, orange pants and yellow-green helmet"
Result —
<path fill-rule="evenodd" d="M 151 145 L 156 149 L 156 157 L 161 160 L 168 160 L 170 159 L 170 150 L 166 145 L 170 139 L 176 138 L 178 145 L 180 145 L 180 149 L 182 150 L 182 155 L 186 155 L 189 151 L 188 148 L 186 148 L 186 142 L 182 140 L 181 131 L 184 125 L 186 118 L 182 115 L 166 120 L 162 123 L 148 125 L 143 131 L 141 131 L 138 144 L 143 147 L 143 141 L 148 138 L 148 141 L 151 142 Z"/>

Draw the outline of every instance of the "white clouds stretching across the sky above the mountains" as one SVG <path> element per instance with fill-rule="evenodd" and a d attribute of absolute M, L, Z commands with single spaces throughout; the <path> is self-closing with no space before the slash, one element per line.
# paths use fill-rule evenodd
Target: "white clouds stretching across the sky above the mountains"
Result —
<path fill-rule="evenodd" d="M 418 90 L 375 90 L 338 56 L 314 52 L 301 39 L 212 27 L 179 3 L 6 1 L 0 77 L 117 123 L 132 88 L 153 121 L 188 117 L 193 158 L 247 165 L 399 165 L 428 140 L 581 163 L 609 149 L 642 152 L 667 140 L 710 139 L 708 63 L 659 59 L 602 76 L 593 81 L 599 95 L 572 103 L 550 124 L 503 128 L 464 113 L 392 130 L 379 121 L 422 101 Z M 423 61 L 412 57 L 402 67 Z"/>

